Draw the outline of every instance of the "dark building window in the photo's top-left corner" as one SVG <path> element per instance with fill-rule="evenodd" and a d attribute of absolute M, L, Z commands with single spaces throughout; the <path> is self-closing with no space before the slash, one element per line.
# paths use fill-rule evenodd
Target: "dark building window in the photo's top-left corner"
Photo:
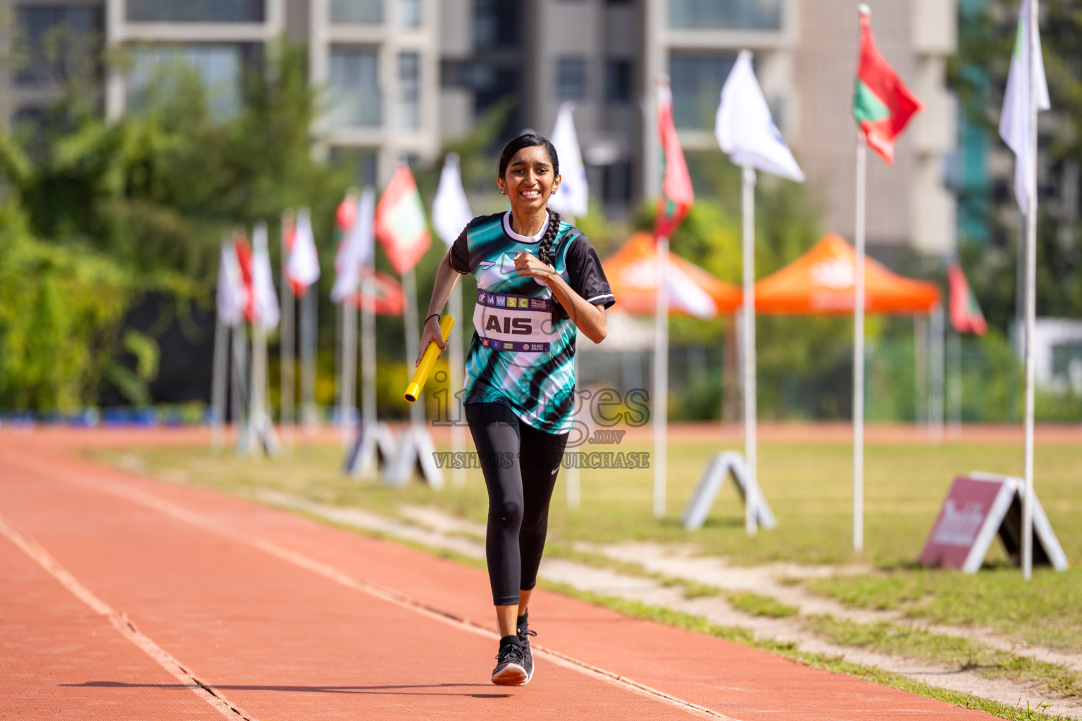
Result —
<path fill-rule="evenodd" d="M 19 8 L 15 83 L 37 85 L 80 72 L 101 75 L 102 12 L 96 8 Z"/>

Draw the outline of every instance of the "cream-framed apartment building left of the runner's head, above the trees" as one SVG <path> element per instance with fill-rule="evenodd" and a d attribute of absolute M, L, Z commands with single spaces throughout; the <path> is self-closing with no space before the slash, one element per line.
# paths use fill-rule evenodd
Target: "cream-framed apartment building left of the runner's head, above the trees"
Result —
<path fill-rule="evenodd" d="M 74 65 L 121 58 L 91 78 L 108 118 L 137 110 L 177 62 L 195 68 L 211 111 L 240 102 L 247 67 L 273 41 L 308 46 L 324 89 L 313 129 L 319 152 L 341 153 L 358 179 L 385 181 L 397 159 L 439 151 L 439 0 L 2 0 L 11 58 L 0 81 L 5 122 L 32 120 L 63 92 Z M 94 61 L 97 62 L 96 59 Z M 100 63 L 98 63 L 100 64 Z"/>

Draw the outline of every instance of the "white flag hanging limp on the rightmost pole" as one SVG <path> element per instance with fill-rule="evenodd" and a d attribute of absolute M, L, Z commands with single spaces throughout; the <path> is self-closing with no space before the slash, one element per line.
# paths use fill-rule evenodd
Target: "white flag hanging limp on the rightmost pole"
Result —
<path fill-rule="evenodd" d="M 1030 52 L 1029 2 L 1030 0 L 1021 0 L 1018 11 L 1018 32 L 1015 36 L 1014 54 L 1011 55 L 1007 89 L 1003 94 L 1003 112 L 1000 115 L 1000 137 L 1015 153 L 1015 198 L 1018 199 L 1018 208 L 1027 215 L 1031 209 L 1037 210 L 1037 148 L 1030 146 L 1030 92 L 1035 95 L 1033 99 L 1038 110 L 1052 107 L 1048 102 L 1048 84 L 1044 79 L 1040 32 L 1037 34 L 1037 88 L 1030 86 L 1030 62 L 1033 53 Z"/>

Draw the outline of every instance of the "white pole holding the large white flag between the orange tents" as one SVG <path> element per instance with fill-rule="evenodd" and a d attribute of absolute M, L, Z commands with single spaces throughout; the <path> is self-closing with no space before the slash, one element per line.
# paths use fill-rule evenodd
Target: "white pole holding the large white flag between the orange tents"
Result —
<path fill-rule="evenodd" d="M 755 408 L 755 169 L 743 166 L 743 380 L 744 380 L 744 530 L 754 536 L 758 526 L 758 443 Z"/>

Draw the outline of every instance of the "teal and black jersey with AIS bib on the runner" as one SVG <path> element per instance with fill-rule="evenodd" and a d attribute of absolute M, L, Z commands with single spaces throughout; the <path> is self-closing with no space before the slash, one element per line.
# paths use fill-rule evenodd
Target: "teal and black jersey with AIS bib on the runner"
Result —
<path fill-rule="evenodd" d="M 547 285 L 515 270 L 515 255 L 537 255 L 538 240 L 515 237 L 510 218 L 510 212 L 476 217 L 451 246 L 451 267 L 477 279 L 462 402 L 503 403 L 539 430 L 567 432 L 577 330 L 566 313 L 553 312 Z M 550 254 L 571 290 L 606 308 L 615 303 L 597 252 L 578 228 L 560 223 Z"/>

